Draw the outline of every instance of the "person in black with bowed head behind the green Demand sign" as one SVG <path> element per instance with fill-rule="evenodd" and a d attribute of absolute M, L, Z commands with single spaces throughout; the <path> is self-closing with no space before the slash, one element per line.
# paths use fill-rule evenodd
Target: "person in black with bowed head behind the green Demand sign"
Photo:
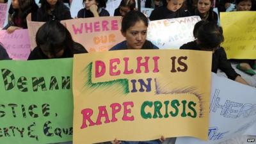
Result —
<path fill-rule="evenodd" d="M 28 60 L 72 58 L 74 54 L 87 53 L 83 45 L 72 40 L 68 29 L 58 20 L 45 22 L 38 29 L 36 45 Z"/>

